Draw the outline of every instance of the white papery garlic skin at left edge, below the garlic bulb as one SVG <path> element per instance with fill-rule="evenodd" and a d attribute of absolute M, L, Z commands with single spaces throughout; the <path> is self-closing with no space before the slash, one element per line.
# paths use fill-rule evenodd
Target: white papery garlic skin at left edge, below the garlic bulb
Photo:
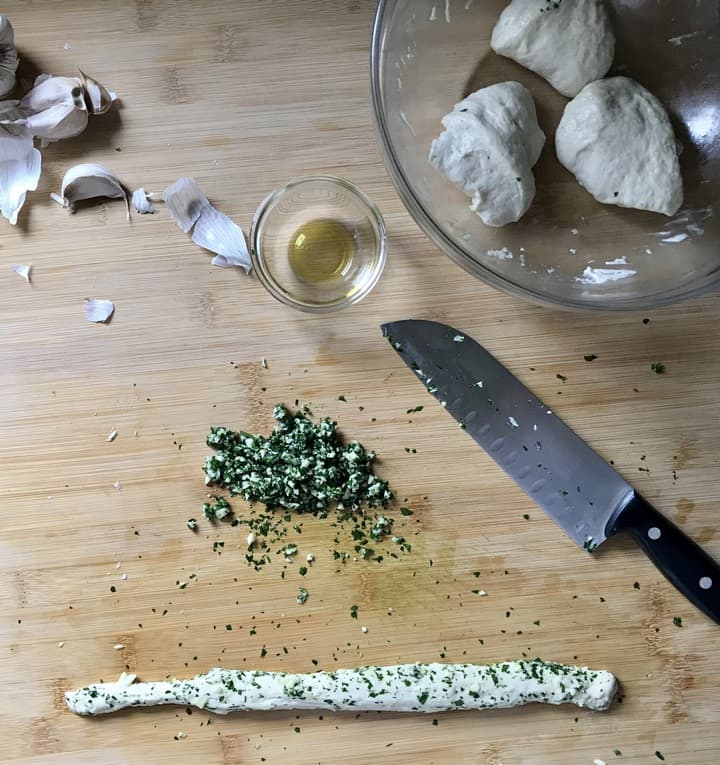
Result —
<path fill-rule="evenodd" d="M 13 226 L 26 192 L 37 188 L 40 167 L 41 156 L 33 146 L 32 134 L 24 129 L 0 127 L 0 213 Z"/>

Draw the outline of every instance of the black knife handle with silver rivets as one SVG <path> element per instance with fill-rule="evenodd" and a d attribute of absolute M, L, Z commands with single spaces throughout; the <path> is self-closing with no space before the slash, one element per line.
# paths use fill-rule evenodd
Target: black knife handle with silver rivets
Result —
<path fill-rule="evenodd" d="M 720 566 L 672 521 L 636 494 L 612 531 L 630 532 L 678 590 L 720 623 Z"/>

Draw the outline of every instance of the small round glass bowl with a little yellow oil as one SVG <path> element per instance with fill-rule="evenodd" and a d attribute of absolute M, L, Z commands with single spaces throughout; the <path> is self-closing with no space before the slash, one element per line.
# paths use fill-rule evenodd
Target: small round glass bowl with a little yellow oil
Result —
<path fill-rule="evenodd" d="M 265 289 L 313 313 L 362 300 L 387 255 L 378 209 L 352 183 L 329 175 L 296 178 L 273 191 L 255 213 L 250 243 Z"/>

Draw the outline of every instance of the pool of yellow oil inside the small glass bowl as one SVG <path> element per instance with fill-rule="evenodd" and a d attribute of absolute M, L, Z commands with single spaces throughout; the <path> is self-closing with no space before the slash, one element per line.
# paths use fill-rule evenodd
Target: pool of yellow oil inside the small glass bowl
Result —
<path fill-rule="evenodd" d="M 346 226 L 321 218 L 304 223 L 290 237 L 288 260 L 298 278 L 317 284 L 342 278 L 355 249 L 355 238 Z"/>

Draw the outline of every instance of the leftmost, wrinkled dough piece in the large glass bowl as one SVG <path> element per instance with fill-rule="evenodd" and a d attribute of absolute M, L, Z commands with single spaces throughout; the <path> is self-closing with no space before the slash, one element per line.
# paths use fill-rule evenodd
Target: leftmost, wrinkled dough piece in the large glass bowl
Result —
<path fill-rule="evenodd" d="M 535 196 L 532 167 L 545 144 L 535 102 L 519 82 L 472 93 L 442 119 L 429 161 L 472 197 L 488 226 L 519 220 Z"/>

